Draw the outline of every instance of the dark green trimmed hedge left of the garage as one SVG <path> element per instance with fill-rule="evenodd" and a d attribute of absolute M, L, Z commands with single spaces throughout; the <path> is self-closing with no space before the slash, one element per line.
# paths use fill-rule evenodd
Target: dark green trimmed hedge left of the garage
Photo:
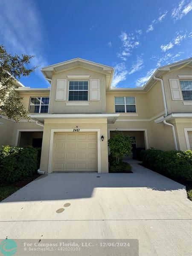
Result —
<path fill-rule="evenodd" d="M 0 148 L 0 183 L 13 183 L 34 174 L 39 168 L 38 150 L 32 146 Z"/>

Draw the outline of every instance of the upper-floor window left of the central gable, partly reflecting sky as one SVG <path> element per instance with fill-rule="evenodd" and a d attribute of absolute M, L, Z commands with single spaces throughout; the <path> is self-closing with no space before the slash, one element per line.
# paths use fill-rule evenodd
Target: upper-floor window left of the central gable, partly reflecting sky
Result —
<path fill-rule="evenodd" d="M 49 97 L 31 97 L 29 104 L 30 113 L 48 113 Z"/>

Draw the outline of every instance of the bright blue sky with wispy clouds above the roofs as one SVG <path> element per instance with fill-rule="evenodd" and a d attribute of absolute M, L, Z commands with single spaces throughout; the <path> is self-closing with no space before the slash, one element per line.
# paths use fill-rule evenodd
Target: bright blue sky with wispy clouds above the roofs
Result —
<path fill-rule="evenodd" d="M 192 56 L 192 1 L 0 0 L 0 44 L 35 55 L 25 86 L 47 87 L 40 68 L 76 57 L 115 67 L 114 87 L 143 86 Z"/>

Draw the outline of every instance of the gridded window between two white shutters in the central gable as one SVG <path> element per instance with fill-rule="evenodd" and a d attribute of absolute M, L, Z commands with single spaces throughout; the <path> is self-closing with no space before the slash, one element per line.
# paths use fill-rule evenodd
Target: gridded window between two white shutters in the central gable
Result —
<path fill-rule="evenodd" d="M 88 100 L 88 81 L 69 81 L 69 101 Z"/>

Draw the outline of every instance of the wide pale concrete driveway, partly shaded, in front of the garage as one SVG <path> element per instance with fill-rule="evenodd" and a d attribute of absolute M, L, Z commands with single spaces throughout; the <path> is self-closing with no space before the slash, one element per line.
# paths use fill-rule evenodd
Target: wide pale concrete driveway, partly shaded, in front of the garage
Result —
<path fill-rule="evenodd" d="M 140 256 L 191 256 L 185 187 L 132 166 L 132 174 L 39 177 L 0 203 L 0 238 L 138 239 Z"/>

